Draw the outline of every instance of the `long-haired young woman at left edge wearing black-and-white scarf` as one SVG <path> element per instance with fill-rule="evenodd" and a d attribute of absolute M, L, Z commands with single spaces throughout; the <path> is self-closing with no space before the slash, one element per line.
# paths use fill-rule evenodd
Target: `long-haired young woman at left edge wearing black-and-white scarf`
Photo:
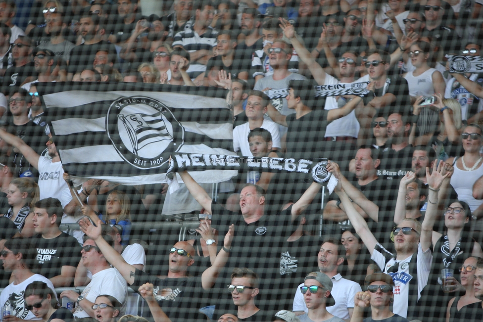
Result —
<path fill-rule="evenodd" d="M 17 226 L 22 237 L 35 233 L 30 213 L 39 195 L 39 185 L 29 178 L 16 178 L 8 186 L 7 200 L 11 207 L 4 216 Z"/>

